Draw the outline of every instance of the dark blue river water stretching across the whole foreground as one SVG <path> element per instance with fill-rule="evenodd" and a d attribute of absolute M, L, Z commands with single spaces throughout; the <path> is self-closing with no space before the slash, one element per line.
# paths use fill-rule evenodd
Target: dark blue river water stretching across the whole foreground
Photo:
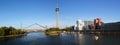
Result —
<path fill-rule="evenodd" d="M 120 45 L 120 36 L 74 32 L 48 36 L 44 32 L 30 32 L 26 36 L 0 38 L 0 45 Z"/>

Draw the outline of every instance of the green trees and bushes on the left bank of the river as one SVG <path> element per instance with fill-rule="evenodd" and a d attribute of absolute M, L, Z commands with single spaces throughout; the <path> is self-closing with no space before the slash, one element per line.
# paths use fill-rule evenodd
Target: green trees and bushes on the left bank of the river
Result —
<path fill-rule="evenodd" d="M 26 31 L 14 27 L 0 27 L 0 36 L 25 34 Z"/>

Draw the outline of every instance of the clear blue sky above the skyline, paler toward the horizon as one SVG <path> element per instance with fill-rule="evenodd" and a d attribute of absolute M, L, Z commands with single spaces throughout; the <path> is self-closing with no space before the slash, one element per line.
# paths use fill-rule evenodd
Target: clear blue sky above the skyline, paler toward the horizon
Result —
<path fill-rule="evenodd" d="M 59 27 L 75 25 L 78 19 L 120 21 L 120 0 L 0 0 L 0 26 L 25 28 L 38 23 L 55 27 L 57 3 Z"/>

